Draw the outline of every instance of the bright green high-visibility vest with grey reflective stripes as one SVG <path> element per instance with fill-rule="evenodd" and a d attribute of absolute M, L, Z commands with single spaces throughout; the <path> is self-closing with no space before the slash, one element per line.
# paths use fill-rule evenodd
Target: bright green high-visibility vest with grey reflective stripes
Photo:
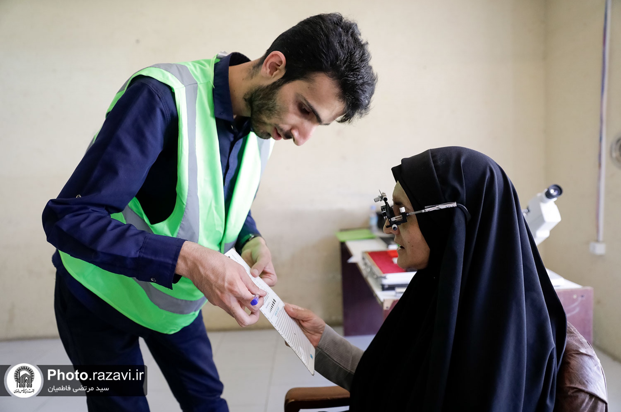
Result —
<path fill-rule="evenodd" d="M 177 198 L 173 213 L 151 224 L 134 198 L 111 217 L 154 234 L 191 240 L 224 253 L 231 249 L 250 211 L 273 140 L 254 133 L 245 137 L 229 212 L 225 214 L 220 148 L 214 117 L 214 63 L 218 58 L 153 65 L 125 82 L 111 111 L 132 78 L 150 76 L 173 89 L 179 115 Z M 97 136 L 95 136 L 96 139 Z M 93 139 L 94 140 L 94 139 Z M 170 290 L 156 283 L 107 272 L 60 251 L 67 271 L 120 313 L 162 333 L 175 333 L 192 323 L 207 299 L 185 277 Z"/>

